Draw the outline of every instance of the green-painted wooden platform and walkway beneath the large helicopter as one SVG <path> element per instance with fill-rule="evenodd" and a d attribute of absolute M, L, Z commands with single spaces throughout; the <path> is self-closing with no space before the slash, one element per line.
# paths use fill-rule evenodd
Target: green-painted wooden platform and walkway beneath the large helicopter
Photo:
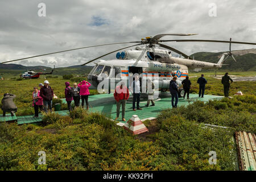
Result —
<path fill-rule="evenodd" d="M 193 102 L 196 100 L 207 102 L 209 100 L 216 100 L 216 99 L 218 100 L 222 98 L 222 96 L 210 96 L 210 95 L 205 95 L 204 98 L 199 98 L 198 94 L 189 94 L 189 97 L 190 97 L 189 100 L 179 98 L 179 102 L 177 105 L 186 106 L 189 104 L 189 102 Z M 63 100 L 63 102 L 65 102 L 65 100 Z M 163 109 L 171 108 L 171 97 L 168 94 L 166 94 L 165 96 L 160 96 L 160 100 L 155 101 L 155 106 L 146 107 L 144 106 L 145 104 L 146 104 L 146 101 L 140 102 L 140 106 L 142 110 L 133 111 L 133 108 L 132 108 L 133 104 L 131 100 L 129 100 L 126 103 L 126 112 L 125 112 L 126 121 L 128 121 L 134 114 L 138 115 L 140 119 L 157 117 L 159 112 L 162 111 Z M 103 113 L 106 115 L 106 117 L 114 119 L 117 115 L 117 107 L 116 107 L 116 102 L 114 100 L 113 93 L 89 96 L 89 111 Z M 69 114 L 68 110 L 56 111 L 56 113 L 59 113 L 60 115 Z M 42 114 L 39 114 L 38 118 L 34 118 L 33 117 L 34 115 L 26 115 L 26 116 L 18 116 L 18 117 L 14 116 L 13 118 L 11 118 L 11 116 L 9 115 L 10 114 L 7 114 L 8 117 L 6 116 L 5 120 L 3 120 L 3 117 L 1 116 L 0 122 L 18 119 L 17 121 L 18 125 L 22 125 L 24 123 L 35 123 L 35 122 L 42 121 Z M 118 121 L 123 122 L 121 119 L 122 119 L 122 108 L 120 109 Z"/>

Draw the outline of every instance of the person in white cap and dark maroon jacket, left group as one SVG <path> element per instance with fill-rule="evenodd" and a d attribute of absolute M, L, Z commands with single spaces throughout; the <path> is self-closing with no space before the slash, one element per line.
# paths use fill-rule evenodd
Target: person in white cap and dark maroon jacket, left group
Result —
<path fill-rule="evenodd" d="M 48 80 L 44 81 L 44 86 L 40 89 L 40 96 L 43 98 L 44 111 L 47 113 L 47 109 L 49 109 L 52 113 L 53 90 L 49 86 Z"/>

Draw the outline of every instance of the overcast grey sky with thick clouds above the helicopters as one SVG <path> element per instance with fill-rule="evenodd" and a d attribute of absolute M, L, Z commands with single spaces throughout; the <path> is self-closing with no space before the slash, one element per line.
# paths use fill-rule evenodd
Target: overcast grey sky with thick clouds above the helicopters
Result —
<path fill-rule="evenodd" d="M 39 16 L 39 3 L 46 16 Z M 213 4 L 214 3 L 214 4 Z M 216 5 L 216 16 L 212 13 Z M 256 42 L 255 0 L 100 1 L 0 0 L 0 62 L 96 44 L 138 41 L 167 33 L 196 33 L 185 39 Z M 184 39 L 168 36 L 162 39 Z M 166 43 L 187 55 L 227 51 L 223 43 Z M 65 67 L 129 44 L 80 49 L 23 61 L 22 65 Z M 255 46 L 233 44 L 232 49 Z M 115 53 L 104 57 L 115 58 Z M 195 57 L 196 59 L 196 57 Z"/>

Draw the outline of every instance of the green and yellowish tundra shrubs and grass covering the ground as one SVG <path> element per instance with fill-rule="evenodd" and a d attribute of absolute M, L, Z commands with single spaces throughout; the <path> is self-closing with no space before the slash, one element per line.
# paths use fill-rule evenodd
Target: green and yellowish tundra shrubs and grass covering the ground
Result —
<path fill-rule="evenodd" d="M 223 94 L 220 80 L 206 78 L 207 94 Z M 32 111 L 32 87 L 43 80 L 3 80 L 0 93 L 16 94 L 17 106 Z M 70 80 L 48 80 L 55 94 L 63 97 L 64 82 Z M 196 92 L 196 78 L 191 80 L 192 92 Z M 233 84 L 245 96 L 162 110 L 154 121 L 144 121 L 153 131 L 148 134 L 131 135 L 105 115 L 80 108 L 68 116 L 44 114 L 43 121 L 36 124 L 0 123 L 0 169 L 235 170 L 234 131 L 256 132 L 256 96 L 255 82 Z M 46 152 L 46 164 L 38 164 L 39 151 Z M 209 164 L 209 151 L 216 151 L 216 165 Z"/>

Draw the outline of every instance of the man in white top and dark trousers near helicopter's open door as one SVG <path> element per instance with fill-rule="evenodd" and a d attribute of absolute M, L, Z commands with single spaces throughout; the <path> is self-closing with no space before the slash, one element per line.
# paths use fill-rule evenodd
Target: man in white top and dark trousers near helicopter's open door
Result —
<path fill-rule="evenodd" d="M 133 94 L 133 110 L 135 111 L 135 102 L 137 100 L 137 110 L 142 110 L 141 107 L 139 107 L 139 101 L 141 100 L 141 83 L 139 82 L 139 76 L 134 75 L 134 81 L 131 82 L 130 91 Z"/>

